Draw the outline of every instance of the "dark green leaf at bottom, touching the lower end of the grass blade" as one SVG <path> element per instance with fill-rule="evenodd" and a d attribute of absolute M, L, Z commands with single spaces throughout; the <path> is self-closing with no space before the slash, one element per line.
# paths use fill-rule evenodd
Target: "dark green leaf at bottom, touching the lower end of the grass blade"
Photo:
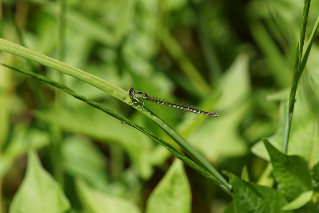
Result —
<path fill-rule="evenodd" d="M 273 188 L 247 183 L 234 174 L 224 171 L 233 186 L 234 212 L 280 213 L 287 203 L 283 194 Z"/>

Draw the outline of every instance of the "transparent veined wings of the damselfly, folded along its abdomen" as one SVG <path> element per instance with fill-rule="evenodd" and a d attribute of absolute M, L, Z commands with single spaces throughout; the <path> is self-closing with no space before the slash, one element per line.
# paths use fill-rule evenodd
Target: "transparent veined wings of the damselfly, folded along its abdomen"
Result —
<path fill-rule="evenodd" d="M 192 108 L 192 109 L 198 110 L 198 108 L 196 106 L 192 106 L 192 105 L 189 105 L 189 104 L 178 103 L 178 102 L 174 102 L 174 101 L 168 101 L 168 100 L 165 100 L 165 99 L 162 99 L 162 98 L 158 98 L 158 97 L 154 97 L 154 96 L 150 96 L 150 95 L 148 97 L 150 99 L 154 99 L 154 100 L 157 100 L 157 101 L 160 101 L 160 102 L 176 104 L 176 105 L 179 105 L 179 106 L 182 106 L 182 107 Z M 152 100 L 148 100 L 148 101 L 152 102 Z M 156 103 L 156 102 L 154 102 L 154 103 Z M 161 108 L 163 108 L 164 110 L 168 111 L 169 113 L 171 113 L 171 114 L 173 114 L 173 115 L 175 115 L 175 116 L 177 116 L 179 118 L 182 118 L 184 120 L 197 121 L 199 119 L 198 114 L 195 113 L 195 112 L 191 112 L 191 111 L 188 111 L 188 110 L 183 110 L 183 109 L 180 109 L 180 108 L 175 108 L 175 107 L 172 107 L 172 106 L 169 106 L 169 105 L 164 105 L 164 104 L 161 104 L 161 103 L 157 103 L 157 105 L 159 105 Z"/>

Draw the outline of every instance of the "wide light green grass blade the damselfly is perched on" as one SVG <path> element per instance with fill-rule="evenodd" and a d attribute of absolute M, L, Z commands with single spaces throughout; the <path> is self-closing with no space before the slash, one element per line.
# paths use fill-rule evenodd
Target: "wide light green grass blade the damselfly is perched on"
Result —
<path fill-rule="evenodd" d="M 56 59 L 50 58 L 48 56 L 42 55 L 38 52 L 35 52 L 31 49 L 27 49 L 18 44 L 9 42 L 0 38 L 0 51 L 5 51 L 19 57 L 24 57 L 26 59 L 37 62 L 41 65 L 50 67 L 64 74 L 70 75 L 74 78 L 82 80 L 106 93 L 114 96 L 115 98 L 126 101 L 129 99 L 127 92 L 122 89 L 119 85 L 114 82 L 103 80 L 99 77 L 96 77 L 90 73 L 84 72 L 78 68 L 67 65 L 63 62 L 60 62 Z M 126 102 L 130 104 L 130 102 Z M 140 110 L 141 106 L 132 105 L 133 108 Z M 173 140 L 202 168 L 210 172 L 213 176 L 220 181 L 220 186 L 225 187 L 225 190 L 230 188 L 229 183 L 226 179 L 214 168 L 211 164 L 200 155 L 195 148 L 193 148 L 185 139 L 182 138 L 177 132 L 174 131 L 170 126 L 168 126 L 162 119 L 157 117 L 152 111 L 148 110 L 146 107 L 143 107 L 142 113 L 147 117 L 151 118 L 160 128 L 162 128 Z"/>

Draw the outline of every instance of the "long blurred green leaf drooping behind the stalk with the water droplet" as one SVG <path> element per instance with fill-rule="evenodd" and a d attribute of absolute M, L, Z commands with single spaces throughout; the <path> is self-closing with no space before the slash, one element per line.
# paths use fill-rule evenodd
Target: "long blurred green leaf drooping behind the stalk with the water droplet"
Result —
<path fill-rule="evenodd" d="M 74 110 L 38 111 L 39 119 L 61 126 L 66 131 L 121 146 L 130 156 L 140 176 L 147 179 L 152 174 L 152 164 L 147 159 L 152 143 L 144 134 L 137 132 L 119 120 L 110 118 L 102 111 L 88 107 Z M 143 140 L 141 140 L 143 138 Z"/>

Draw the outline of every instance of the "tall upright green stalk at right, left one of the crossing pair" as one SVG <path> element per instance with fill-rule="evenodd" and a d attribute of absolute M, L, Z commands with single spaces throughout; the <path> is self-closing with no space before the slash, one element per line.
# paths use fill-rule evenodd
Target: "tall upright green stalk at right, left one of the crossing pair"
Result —
<path fill-rule="evenodd" d="M 286 129 L 285 129 L 285 136 L 284 136 L 284 143 L 283 143 L 283 153 L 285 153 L 285 154 L 287 153 L 287 150 L 288 150 L 289 133 L 290 133 L 291 121 L 293 119 L 293 108 L 294 108 L 295 101 L 296 101 L 295 98 L 296 98 L 296 92 L 297 92 L 297 85 L 298 85 L 298 82 L 300 80 L 299 77 L 301 75 L 301 72 L 303 71 L 300 69 L 301 68 L 301 57 L 302 57 L 303 45 L 305 42 L 310 1 L 311 0 L 305 0 L 303 13 L 302 13 L 300 41 L 297 45 L 293 79 L 292 79 L 291 90 L 290 90 L 290 95 L 289 95 L 288 116 L 287 116 L 287 121 L 286 121 Z"/>

